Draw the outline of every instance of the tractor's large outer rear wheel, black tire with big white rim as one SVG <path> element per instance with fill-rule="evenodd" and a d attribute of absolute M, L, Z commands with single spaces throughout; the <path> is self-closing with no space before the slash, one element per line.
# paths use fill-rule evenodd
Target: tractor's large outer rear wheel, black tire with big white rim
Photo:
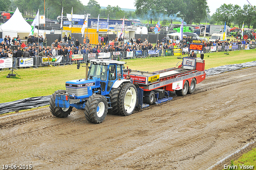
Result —
<path fill-rule="evenodd" d="M 137 104 L 137 90 L 134 84 L 125 84 L 118 95 L 118 111 L 123 116 L 133 113 Z"/>

